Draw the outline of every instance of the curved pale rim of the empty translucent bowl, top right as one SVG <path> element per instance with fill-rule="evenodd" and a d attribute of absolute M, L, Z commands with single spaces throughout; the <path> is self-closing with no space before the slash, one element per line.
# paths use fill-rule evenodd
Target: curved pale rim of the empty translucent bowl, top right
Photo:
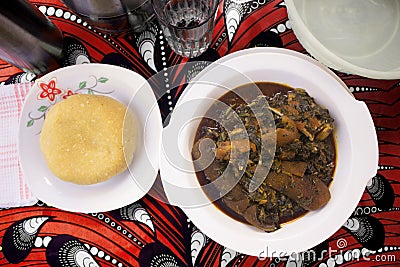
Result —
<path fill-rule="evenodd" d="M 293 32 L 299 40 L 300 44 L 315 58 L 328 67 L 335 70 L 360 75 L 373 79 L 395 80 L 400 79 L 400 69 L 391 71 L 377 71 L 368 68 L 360 67 L 350 63 L 349 61 L 335 55 L 332 51 L 327 49 L 307 28 L 302 17 L 297 11 L 294 0 L 285 0 L 289 21 Z M 307 36 L 310 41 L 305 40 L 299 36 Z M 311 43 L 315 45 L 311 45 Z M 341 66 L 341 67 L 340 67 Z"/>

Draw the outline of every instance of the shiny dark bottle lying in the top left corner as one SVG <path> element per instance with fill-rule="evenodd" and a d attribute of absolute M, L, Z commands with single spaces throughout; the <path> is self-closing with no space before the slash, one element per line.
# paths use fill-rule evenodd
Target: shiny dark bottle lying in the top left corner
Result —
<path fill-rule="evenodd" d="M 0 58 L 37 75 L 59 67 L 62 33 L 27 0 L 0 1 Z"/>

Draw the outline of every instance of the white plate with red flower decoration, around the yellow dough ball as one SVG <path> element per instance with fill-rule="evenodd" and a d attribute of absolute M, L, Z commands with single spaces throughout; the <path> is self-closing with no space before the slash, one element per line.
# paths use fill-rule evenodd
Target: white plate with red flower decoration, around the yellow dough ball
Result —
<path fill-rule="evenodd" d="M 40 150 L 39 134 L 50 107 L 72 93 L 107 95 L 132 109 L 138 120 L 139 140 L 130 171 L 95 185 L 64 182 L 50 172 Z M 161 132 L 156 97 L 139 74 L 105 64 L 61 68 L 38 79 L 25 99 L 18 144 L 22 171 L 30 190 L 46 204 L 76 212 L 117 209 L 143 197 L 154 183 Z"/>

